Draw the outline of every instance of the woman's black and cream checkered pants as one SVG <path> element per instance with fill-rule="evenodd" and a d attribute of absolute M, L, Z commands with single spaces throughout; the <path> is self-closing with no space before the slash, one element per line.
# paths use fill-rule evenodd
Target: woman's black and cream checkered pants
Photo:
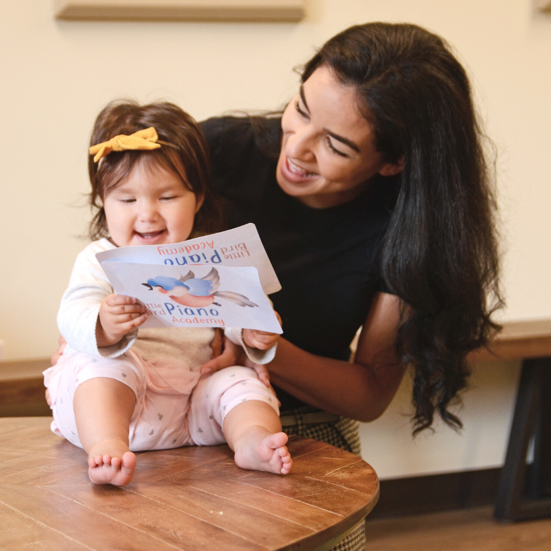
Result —
<path fill-rule="evenodd" d="M 318 415 L 329 420 L 323 419 L 324 422 L 315 423 L 316 414 L 305 414 L 301 409 L 283 412 L 281 418 L 283 431 L 289 435 L 296 434 L 305 438 L 321 440 L 342 450 L 360 455 L 360 434 L 357 421 L 325 412 Z M 365 521 L 359 522 L 352 532 L 335 545 L 331 551 L 365 551 Z"/>

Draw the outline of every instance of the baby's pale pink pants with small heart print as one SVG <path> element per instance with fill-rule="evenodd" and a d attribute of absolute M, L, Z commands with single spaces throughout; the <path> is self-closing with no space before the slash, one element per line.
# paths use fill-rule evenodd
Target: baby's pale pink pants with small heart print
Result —
<path fill-rule="evenodd" d="M 52 431 L 81 448 L 74 392 L 96 377 L 116 379 L 136 395 L 128 434 L 131 451 L 223 444 L 226 415 L 247 400 L 266 402 L 279 415 L 276 396 L 250 368 L 233 366 L 201 376 L 183 362 L 145 361 L 132 350 L 118 358 L 77 352 L 44 371 L 44 384 L 52 402 Z"/>

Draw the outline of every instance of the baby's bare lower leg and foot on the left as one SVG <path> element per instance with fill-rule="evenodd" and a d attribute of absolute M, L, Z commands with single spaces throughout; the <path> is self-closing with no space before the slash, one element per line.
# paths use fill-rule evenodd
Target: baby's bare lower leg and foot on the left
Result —
<path fill-rule="evenodd" d="M 88 379 L 75 390 L 75 422 L 95 484 L 122 486 L 132 480 L 136 456 L 128 449 L 128 429 L 135 406 L 133 390 L 116 379 Z"/>

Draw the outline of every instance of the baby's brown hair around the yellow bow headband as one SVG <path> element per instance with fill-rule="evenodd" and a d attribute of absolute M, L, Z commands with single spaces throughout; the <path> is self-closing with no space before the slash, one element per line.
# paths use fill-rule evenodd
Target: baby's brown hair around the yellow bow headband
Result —
<path fill-rule="evenodd" d="M 161 145 L 159 149 L 111 152 L 94 163 L 88 159 L 92 191 L 89 195 L 94 217 L 90 222 L 90 239 L 107 237 L 107 220 L 102 202 L 132 171 L 136 163 L 159 166 L 174 172 L 203 204 L 195 215 L 193 234 L 220 231 L 224 225 L 220 199 L 209 188 L 209 150 L 199 125 L 177 105 L 156 102 L 139 105 L 135 101 L 112 101 L 101 110 L 90 139 L 90 145 L 107 142 L 119 134 L 133 134 L 153 126 Z"/>

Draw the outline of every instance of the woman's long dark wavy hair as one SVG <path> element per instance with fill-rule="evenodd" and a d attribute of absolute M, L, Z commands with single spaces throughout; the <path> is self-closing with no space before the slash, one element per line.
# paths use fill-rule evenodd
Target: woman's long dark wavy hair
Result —
<path fill-rule="evenodd" d="M 416 25 L 370 23 L 329 40 L 306 64 L 358 91 L 387 162 L 403 157 L 396 207 L 382 249 L 382 276 L 409 305 L 399 358 L 414 369 L 414 433 L 467 386 L 466 355 L 499 329 L 503 305 L 493 170 L 467 75 L 439 36 Z M 405 310 L 404 310 L 405 311 Z"/>

